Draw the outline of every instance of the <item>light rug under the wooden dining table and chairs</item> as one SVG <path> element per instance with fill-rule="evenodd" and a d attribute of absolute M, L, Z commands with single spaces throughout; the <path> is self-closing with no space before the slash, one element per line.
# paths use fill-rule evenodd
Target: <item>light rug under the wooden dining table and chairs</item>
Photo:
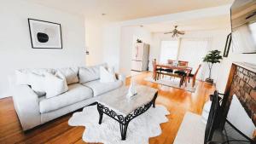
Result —
<path fill-rule="evenodd" d="M 198 86 L 198 83 L 195 82 L 195 86 L 192 87 L 192 79 L 190 79 L 190 83 L 188 83 L 187 86 L 185 86 L 185 84 L 183 84 L 181 87 L 179 87 L 180 78 L 171 78 L 170 79 L 170 77 L 165 77 L 165 78 L 160 78 L 159 80 L 155 81 L 154 78 L 147 77 L 147 78 L 144 78 L 144 80 L 146 80 L 148 82 L 156 83 L 156 84 L 166 85 L 166 86 L 177 88 L 177 89 L 184 89 L 184 90 L 187 90 L 192 93 L 195 92 L 195 90 Z"/>

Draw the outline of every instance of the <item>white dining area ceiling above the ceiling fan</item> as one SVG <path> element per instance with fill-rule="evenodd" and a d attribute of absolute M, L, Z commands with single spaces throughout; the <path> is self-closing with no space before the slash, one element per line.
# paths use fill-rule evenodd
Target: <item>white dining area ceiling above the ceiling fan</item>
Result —
<path fill-rule="evenodd" d="M 147 28 L 150 32 L 170 32 L 174 29 L 174 26 L 176 25 L 177 30 L 185 32 L 227 28 L 230 26 L 230 15 L 225 14 L 201 19 L 162 22 L 143 25 L 143 27 Z"/>

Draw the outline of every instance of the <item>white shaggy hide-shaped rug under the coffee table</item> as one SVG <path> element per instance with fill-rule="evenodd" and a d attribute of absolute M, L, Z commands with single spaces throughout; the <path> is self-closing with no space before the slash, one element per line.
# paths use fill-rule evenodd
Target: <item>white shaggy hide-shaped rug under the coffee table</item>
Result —
<path fill-rule="evenodd" d="M 83 140 L 104 144 L 148 144 L 148 138 L 161 134 L 161 123 L 166 123 L 170 112 L 164 106 L 150 107 L 137 118 L 131 120 L 126 140 L 121 141 L 119 123 L 103 114 L 102 124 L 98 124 L 99 113 L 96 106 L 84 107 L 83 112 L 73 113 L 68 120 L 71 126 L 84 126 Z"/>

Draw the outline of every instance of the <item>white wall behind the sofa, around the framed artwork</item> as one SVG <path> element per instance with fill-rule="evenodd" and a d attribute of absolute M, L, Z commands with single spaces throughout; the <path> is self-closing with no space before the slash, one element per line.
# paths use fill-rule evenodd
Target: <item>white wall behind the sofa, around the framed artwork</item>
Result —
<path fill-rule="evenodd" d="M 32 49 L 27 18 L 61 24 L 63 49 Z M 20 0 L 0 3 L 0 98 L 15 69 L 85 65 L 84 17 Z"/>

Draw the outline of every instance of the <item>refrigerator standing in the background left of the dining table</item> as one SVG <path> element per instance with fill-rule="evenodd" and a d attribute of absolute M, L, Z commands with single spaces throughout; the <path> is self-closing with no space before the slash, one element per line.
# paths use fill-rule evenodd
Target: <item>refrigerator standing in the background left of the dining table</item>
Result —
<path fill-rule="evenodd" d="M 136 43 L 132 48 L 131 71 L 148 71 L 149 44 Z"/>

